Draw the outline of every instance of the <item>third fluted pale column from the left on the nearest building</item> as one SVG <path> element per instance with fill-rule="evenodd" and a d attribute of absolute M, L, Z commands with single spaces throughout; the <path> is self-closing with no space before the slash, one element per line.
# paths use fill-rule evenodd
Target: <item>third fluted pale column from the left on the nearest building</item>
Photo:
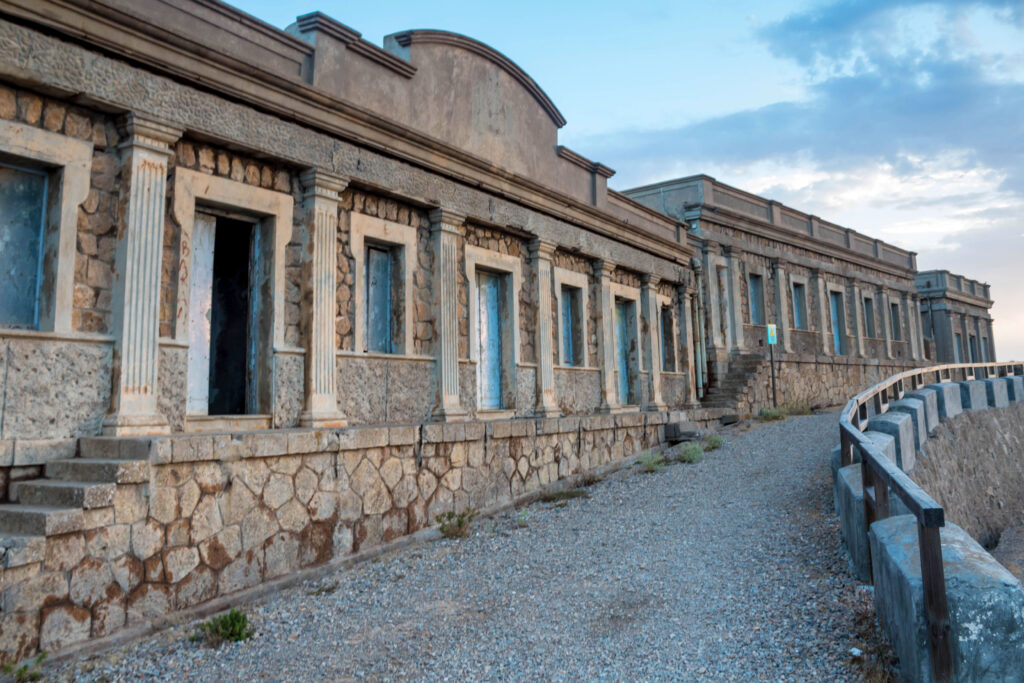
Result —
<path fill-rule="evenodd" d="M 442 421 L 464 420 L 459 397 L 459 226 L 466 217 L 447 209 L 430 212 L 434 242 L 434 321 L 437 332 L 437 407 Z"/>

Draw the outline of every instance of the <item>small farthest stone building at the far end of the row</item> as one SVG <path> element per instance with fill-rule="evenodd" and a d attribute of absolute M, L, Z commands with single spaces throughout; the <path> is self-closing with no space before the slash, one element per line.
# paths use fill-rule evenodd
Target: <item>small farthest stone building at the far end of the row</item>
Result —
<path fill-rule="evenodd" d="M 914 282 L 925 341 L 935 349 L 931 357 L 939 362 L 994 362 L 988 285 L 948 270 L 925 270 Z"/>

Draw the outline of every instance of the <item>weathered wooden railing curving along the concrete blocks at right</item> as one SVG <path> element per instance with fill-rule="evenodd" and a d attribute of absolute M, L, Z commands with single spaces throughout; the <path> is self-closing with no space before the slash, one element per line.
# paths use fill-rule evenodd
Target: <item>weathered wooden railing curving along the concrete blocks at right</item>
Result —
<path fill-rule="evenodd" d="M 942 506 L 915 484 L 896 463 L 864 436 L 871 415 L 883 415 L 894 400 L 929 384 L 966 382 L 974 379 L 1024 375 L 1021 362 L 981 362 L 933 366 L 908 370 L 880 382 L 850 399 L 840 414 L 839 433 L 842 465 L 853 464 L 854 449 L 860 453 L 861 480 L 864 489 L 864 527 L 889 516 L 889 495 L 895 494 L 918 518 L 918 544 L 921 548 L 921 577 L 925 589 L 928 617 L 928 647 L 932 678 L 948 681 L 953 663 L 949 637 L 949 605 L 942 566 L 942 543 L 939 528 L 945 524 Z M 868 548 L 870 553 L 870 548 Z"/>

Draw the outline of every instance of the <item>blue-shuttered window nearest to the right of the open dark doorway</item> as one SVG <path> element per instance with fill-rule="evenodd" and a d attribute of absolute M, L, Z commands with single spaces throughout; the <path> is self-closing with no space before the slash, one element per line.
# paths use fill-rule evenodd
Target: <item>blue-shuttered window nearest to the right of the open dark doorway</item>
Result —
<path fill-rule="evenodd" d="M 401 336 L 401 291 L 397 275 L 401 272 L 400 249 L 384 245 L 368 245 L 367 278 L 367 345 L 368 351 L 394 353 L 395 340 Z"/>

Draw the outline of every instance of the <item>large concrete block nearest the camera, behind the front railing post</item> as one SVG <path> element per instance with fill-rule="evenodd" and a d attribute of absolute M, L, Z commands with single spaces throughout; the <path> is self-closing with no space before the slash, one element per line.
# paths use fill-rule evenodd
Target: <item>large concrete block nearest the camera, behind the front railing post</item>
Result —
<path fill-rule="evenodd" d="M 1024 672 L 1024 590 L 964 529 L 940 529 L 949 603 L 953 680 L 1019 681 Z M 879 622 L 899 656 L 904 680 L 932 680 L 921 580 L 918 523 L 910 516 L 871 524 Z"/>

